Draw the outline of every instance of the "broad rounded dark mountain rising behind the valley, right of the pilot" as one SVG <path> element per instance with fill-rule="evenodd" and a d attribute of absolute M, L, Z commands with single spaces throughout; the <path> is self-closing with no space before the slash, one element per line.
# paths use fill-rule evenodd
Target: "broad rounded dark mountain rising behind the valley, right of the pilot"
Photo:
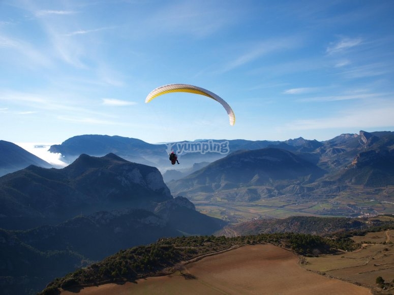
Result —
<path fill-rule="evenodd" d="M 313 163 L 283 149 L 238 151 L 191 175 L 169 183 L 173 193 L 216 193 L 254 186 L 310 183 L 324 171 Z M 250 188 L 249 190 L 251 190 Z M 254 189 L 257 197 L 261 192 Z M 252 191 L 249 196 L 253 198 Z M 240 194 L 238 198 L 241 198 Z M 260 197 L 259 197 L 260 198 Z"/>

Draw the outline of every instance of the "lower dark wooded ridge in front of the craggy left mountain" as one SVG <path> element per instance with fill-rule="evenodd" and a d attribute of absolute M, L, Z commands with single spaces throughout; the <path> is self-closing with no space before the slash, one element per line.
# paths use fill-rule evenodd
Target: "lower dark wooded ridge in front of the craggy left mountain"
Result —
<path fill-rule="evenodd" d="M 0 228 L 0 277 L 7 294 L 37 293 L 55 277 L 85 267 L 120 249 L 150 244 L 162 238 L 212 235 L 226 223 L 203 215 L 178 197 L 144 209 L 100 211 L 57 225 L 25 231 Z M 0 280 L 1 281 L 1 280 Z"/>

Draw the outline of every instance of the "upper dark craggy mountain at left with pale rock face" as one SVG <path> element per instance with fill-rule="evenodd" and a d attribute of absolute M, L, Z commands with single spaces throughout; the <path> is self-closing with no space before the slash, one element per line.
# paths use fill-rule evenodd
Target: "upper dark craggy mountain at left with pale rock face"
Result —
<path fill-rule="evenodd" d="M 112 153 L 104 157 L 82 154 L 63 169 L 29 166 L 0 177 L 0 227 L 26 228 L 61 222 L 81 212 L 170 199 L 157 168 Z"/>

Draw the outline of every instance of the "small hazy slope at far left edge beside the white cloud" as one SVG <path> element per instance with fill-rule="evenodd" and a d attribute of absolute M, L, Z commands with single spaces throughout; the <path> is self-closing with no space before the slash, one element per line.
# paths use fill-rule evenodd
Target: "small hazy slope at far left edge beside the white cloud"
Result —
<path fill-rule="evenodd" d="M 51 168 L 50 163 L 24 150 L 20 146 L 0 140 L 0 176 L 6 175 L 36 165 L 43 168 Z"/>

